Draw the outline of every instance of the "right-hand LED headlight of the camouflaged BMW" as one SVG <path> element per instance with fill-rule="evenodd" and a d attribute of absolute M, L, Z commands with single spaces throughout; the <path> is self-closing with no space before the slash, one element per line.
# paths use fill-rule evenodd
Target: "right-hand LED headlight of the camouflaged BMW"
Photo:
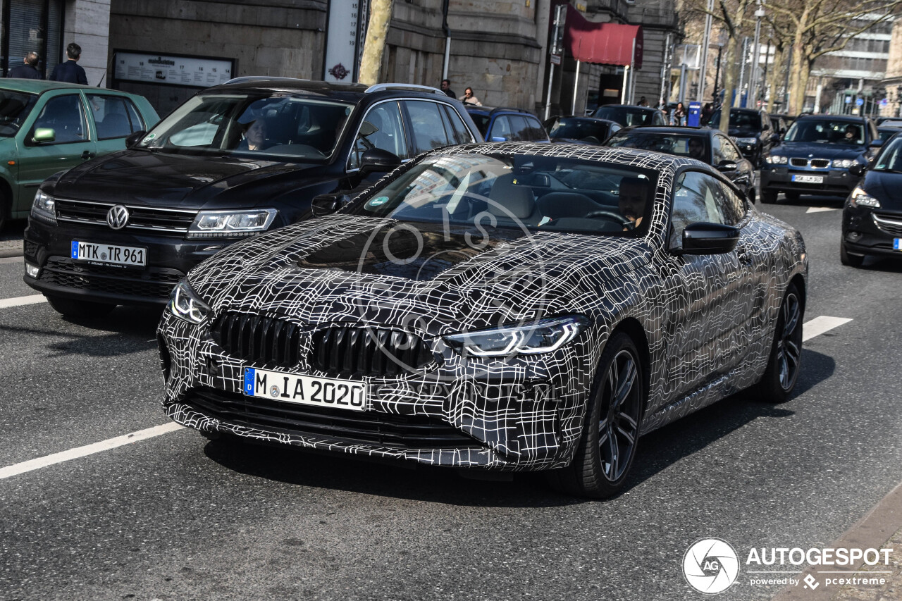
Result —
<path fill-rule="evenodd" d="M 573 340 L 588 324 L 581 315 L 540 319 L 522 326 L 482 329 L 444 337 L 464 356 L 513 356 L 549 353 Z"/>

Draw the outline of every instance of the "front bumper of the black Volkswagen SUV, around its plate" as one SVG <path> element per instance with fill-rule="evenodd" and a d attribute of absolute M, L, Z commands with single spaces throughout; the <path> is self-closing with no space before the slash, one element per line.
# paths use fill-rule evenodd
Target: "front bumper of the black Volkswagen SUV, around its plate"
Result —
<path fill-rule="evenodd" d="M 115 231 L 108 227 L 29 219 L 25 228 L 25 263 L 40 269 L 24 281 L 45 294 L 82 301 L 123 305 L 162 305 L 189 270 L 234 240 L 186 240 L 153 232 Z M 147 249 L 147 266 L 112 267 L 71 258 L 72 241 Z"/>

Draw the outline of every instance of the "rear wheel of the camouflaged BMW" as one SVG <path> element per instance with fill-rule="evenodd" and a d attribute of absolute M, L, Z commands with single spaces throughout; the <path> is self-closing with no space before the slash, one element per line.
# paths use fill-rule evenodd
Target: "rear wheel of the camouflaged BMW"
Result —
<path fill-rule="evenodd" d="M 758 384 L 765 402 L 787 402 L 802 365 L 802 317 L 805 308 L 796 284 L 790 283 L 780 305 L 768 367 Z"/>

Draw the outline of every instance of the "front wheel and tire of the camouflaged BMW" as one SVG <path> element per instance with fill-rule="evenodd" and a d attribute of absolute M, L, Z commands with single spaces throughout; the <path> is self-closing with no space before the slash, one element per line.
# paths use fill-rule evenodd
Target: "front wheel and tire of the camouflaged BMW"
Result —
<path fill-rule="evenodd" d="M 553 473 L 552 484 L 569 495 L 604 499 L 621 492 L 630 473 L 647 398 L 639 351 L 627 334 L 608 341 L 592 391 L 573 461 Z"/>

